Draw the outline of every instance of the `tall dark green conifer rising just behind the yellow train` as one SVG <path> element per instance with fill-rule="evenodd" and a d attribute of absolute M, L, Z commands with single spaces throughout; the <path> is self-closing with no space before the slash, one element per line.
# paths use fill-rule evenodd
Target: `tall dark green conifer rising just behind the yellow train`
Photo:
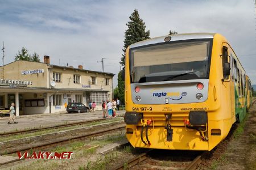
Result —
<path fill-rule="evenodd" d="M 120 61 L 121 65 L 125 65 L 125 53 L 129 45 L 134 44 L 135 42 L 143 41 L 150 39 L 150 31 L 146 31 L 146 25 L 143 20 L 139 17 L 138 10 L 134 10 L 131 16 L 129 17 L 130 21 L 126 24 L 127 29 L 125 31 L 125 40 L 123 45 L 123 54 Z M 121 72 L 118 73 L 118 92 L 119 100 L 124 104 L 125 100 L 125 82 L 121 78 Z"/>

